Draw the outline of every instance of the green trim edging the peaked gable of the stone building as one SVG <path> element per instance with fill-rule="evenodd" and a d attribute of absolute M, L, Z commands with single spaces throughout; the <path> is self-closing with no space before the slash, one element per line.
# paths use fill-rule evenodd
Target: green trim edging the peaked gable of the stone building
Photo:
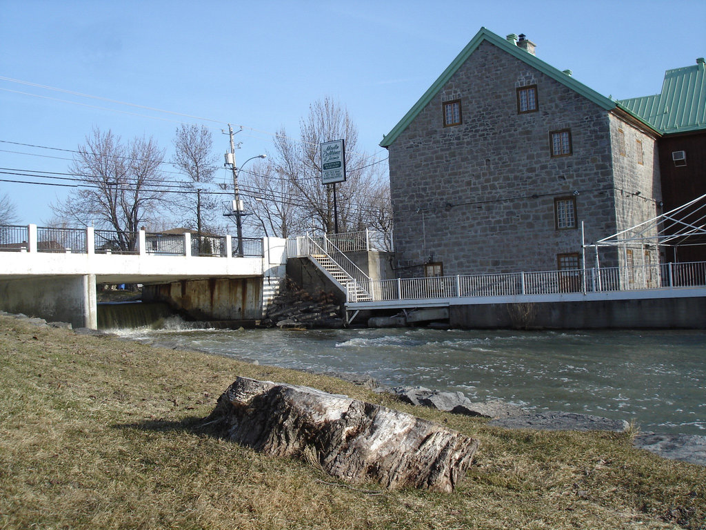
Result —
<path fill-rule="evenodd" d="M 400 134 L 402 134 L 402 131 L 407 129 L 407 126 L 412 123 L 412 121 L 414 120 L 414 118 L 417 117 L 419 112 L 421 112 L 424 107 L 426 107 L 426 105 L 429 105 L 429 102 L 434 98 L 438 91 L 443 88 L 443 86 L 449 81 L 453 74 L 456 73 L 458 69 L 460 69 L 462 64 L 464 64 L 465 61 L 471 56 L 471 54 L 476 51 L 476 49 L 481 45 L 481 42 L 483 41 L 490 42 L 492 45 L 495 45 L 503 51 L 508 52 L 513 57 L 520 59 L 520 61 L 524 61 L 525 63 L 532 66 L 532 68 L 541 71 L 550 78 L 553 78 L 555 81 L 558 81 L 559 83 L 568 86 L 568 88 L 575 90 L 575 92 L 578 92 L 580 95 L 591 100 L 596 105 L 599 105 L 599 107 L 602 107 L 604 110 L 611 110 L 616 107 L 616 102 L 614 102 L 613 100 L 606 98 L 604 95 L 597 93 L 591 88 L 588 88 L 583 83 L 580 83 L 579 81 L 576 81 L 573 77 L 568 76 L 566 73 L 563 73 L 563 71 L 556 69 L 554 68 L 554 66 L 551 66 L 550 64 L 547 64 L 546 62 L 542 61 L 542 59 L 537 59 L 537 57 L 532 55 L 530 52 L 526 52 L 524 49 L 513 45 L 512 43 L 508 42 L 508 40 L 503 39 L 503 37 L 499 37 L 498 35 L 492 33 L 486 28 L 481 28 L 479 32 L 476 33 L 476 35 L 472 38 L 471 42 L 469 42 L 466 47 L 462 49 L 460 54 L 457 55 L 457 57 L 447 67 L 447 69 L 445 69 L 443 73 L 441 73 L 441 76 L 439 76 L 436 81 L 434 81 L 433 85 L 431 85 L 429 89 L 426 90 L 424 95 L 419 98 L 419 101 L 417 101 L 414 106 L 409 110 L 409 112 L 405 114 L 405 117 L 403 117 L 400 122 L 398 122 L 397 125 L 395 125 L 393 129 L 385 135 L 383 141 L 381 141 L 380 143 L 381 147 L 390 146 L 397 139 L 397 136 L 400 136 Z"/>

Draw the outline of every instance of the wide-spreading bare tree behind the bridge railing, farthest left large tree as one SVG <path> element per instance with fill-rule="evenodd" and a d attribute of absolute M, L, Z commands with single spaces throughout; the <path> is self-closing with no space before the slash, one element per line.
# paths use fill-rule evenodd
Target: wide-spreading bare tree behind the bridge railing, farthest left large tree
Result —
<path fill-rule="evenodd" d="M 161 206 L 163 158 L 164 150 L 151 138 L 126 145 L 112 131 L 95 128 L 69 166 L 80 187 L 52 209 L 63 219 L 115 230 L 120 247 L 134 249 L 140 226 Z"/>

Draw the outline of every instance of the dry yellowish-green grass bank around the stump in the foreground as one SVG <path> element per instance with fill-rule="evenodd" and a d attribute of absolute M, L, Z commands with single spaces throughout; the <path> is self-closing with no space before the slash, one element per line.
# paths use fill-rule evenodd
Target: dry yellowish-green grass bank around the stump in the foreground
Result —
<path fill-rule="evenodd" d="M 277 333 L 277 331 L 273 331 Z M 202 428 L 237 375 L 400 408 L 478 437 L 452 495 L 349 488 Z M 706 472 L 630 435 L 490 428 L 329 377 L 0 317 L 0 529 L 706 529 Z"/>

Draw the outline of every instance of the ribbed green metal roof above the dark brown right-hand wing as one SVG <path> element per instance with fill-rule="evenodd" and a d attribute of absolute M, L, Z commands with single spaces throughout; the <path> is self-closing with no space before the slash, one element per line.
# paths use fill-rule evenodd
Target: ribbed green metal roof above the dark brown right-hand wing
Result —
<path fill-rule="evenodd" d="M 706 129 L 705 70 L 704 59 L 667 70 L 662 93 L 621 100 L 620 105 L 662 134 Z"/>

